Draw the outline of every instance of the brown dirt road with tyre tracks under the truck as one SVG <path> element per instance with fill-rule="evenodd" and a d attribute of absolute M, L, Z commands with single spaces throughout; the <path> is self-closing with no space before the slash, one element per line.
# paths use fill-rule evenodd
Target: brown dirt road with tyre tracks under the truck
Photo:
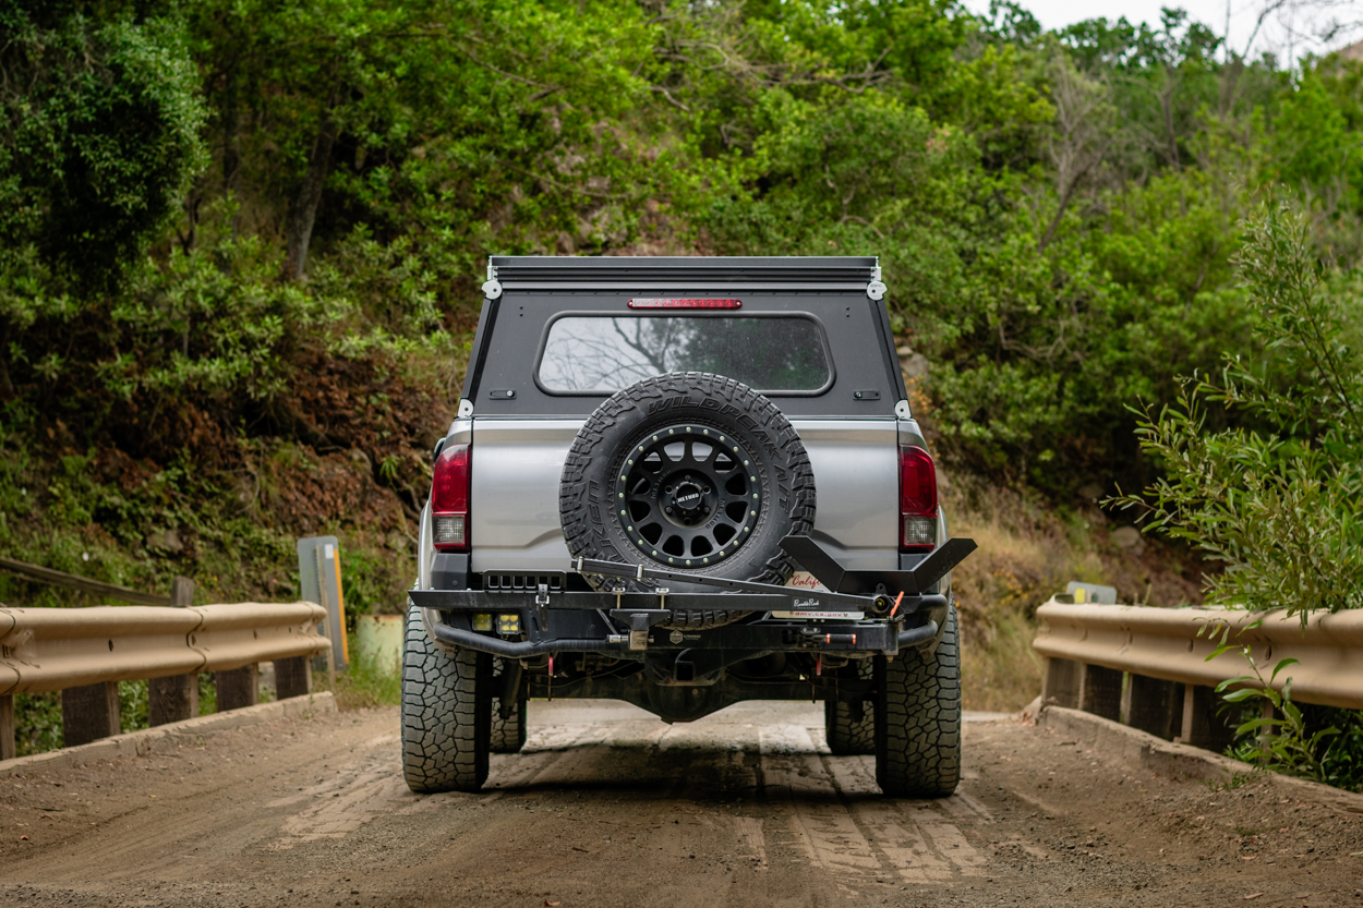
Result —
<path fill-rule="evenodd" d="M 417 798 L 397 710 L 0 778 L 3 905 L 1360 905 L 1363 815 L 969 721 L 940 802 L 830 757 L 822 709 L 690 725 L 533 702 L 478 795 Z M 1356 852 L 1356 853 L 1355 853 Z"/>

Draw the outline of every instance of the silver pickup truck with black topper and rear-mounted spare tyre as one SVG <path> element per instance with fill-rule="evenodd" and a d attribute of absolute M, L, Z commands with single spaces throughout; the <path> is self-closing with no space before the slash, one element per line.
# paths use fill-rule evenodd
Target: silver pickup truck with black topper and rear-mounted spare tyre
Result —
<path fill-rule="evenodd" d="M 875 258 L 493 256 L 409 599 L 416 792 L 526 699 L 822 699 L 887 795 L 961 773 L 949 539 Z"/>

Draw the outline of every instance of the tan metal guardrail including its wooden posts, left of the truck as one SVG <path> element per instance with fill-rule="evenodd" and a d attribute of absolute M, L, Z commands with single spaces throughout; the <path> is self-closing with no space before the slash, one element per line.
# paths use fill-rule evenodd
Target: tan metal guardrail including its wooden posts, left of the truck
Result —
<path fill-rule="evenodd" d="M 0 607 L 0 759 L 14 757 L 15 694 L 60 690 L 67 746 L 119 732 L 123 680 L 149 680 L 153 725 L 198 713 L 199 672 L 217 674 L 219 712 L 256 702 L 264 661 L 279 699 L 307 694 L 324 619 L 312 603 Z"/>

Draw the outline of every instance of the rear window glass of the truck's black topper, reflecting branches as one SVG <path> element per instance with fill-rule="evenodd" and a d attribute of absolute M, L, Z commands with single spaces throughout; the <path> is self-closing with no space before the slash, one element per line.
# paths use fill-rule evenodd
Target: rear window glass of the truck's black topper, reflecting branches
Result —
<path fill-rule="evenodd" d="M 536 383 L 549 394 L 613 394 L 665 372 L 716 372 L 765 394 L 833 384 L 823 326 L 811 315 L 564 314 L 549 323 Z"/>

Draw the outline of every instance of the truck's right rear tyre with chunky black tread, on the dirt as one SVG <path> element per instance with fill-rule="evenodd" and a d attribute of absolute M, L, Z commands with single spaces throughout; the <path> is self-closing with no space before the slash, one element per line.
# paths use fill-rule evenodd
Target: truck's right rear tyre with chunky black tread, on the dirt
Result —
<path fill-rule="evenodd" d="M 895 798 L 946 798 L 961 781 L 961 652 L 955 605 L 936 652 L 875 659 L 875 780 Z"/>

